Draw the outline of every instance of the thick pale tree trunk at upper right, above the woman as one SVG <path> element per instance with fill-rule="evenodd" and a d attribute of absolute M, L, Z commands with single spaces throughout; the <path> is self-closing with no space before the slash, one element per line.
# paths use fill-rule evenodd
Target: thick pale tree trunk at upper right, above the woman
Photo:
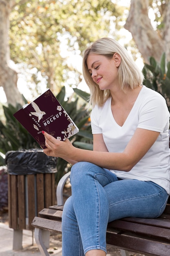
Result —
<path fill-rule="evenodd" d="M 160 61 L 161 55 L 165 52 L 165 42 L 150 23 L 148 0 L 131 0 L 129 16 L 124 27 L 131 32 L 144 62 L 148 63 L 150 56 Z"/>

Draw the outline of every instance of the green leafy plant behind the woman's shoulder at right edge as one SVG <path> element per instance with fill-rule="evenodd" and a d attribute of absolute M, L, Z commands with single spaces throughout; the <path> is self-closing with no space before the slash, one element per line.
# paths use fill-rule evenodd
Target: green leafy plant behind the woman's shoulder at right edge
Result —
<path fill-rule="evenodd" d="M 166 64 L 165 53 L 158 63 L 155 58 L 149 58 L 150 64 L 145 63 L 143 73 L 144 85 L 159 92 L 165 99 L 170 111 L 170 61 Z"/>

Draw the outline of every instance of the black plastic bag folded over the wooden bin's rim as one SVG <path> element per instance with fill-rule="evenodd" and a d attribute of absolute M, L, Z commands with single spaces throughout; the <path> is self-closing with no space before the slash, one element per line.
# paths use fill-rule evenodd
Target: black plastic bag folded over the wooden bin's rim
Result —
<path fill-rule="evenodd" d="M 29 175 L 57 172 L 57 158 L 45 155 L 42 149 L 8 151 L 5 156 L 9 174 Z"/>

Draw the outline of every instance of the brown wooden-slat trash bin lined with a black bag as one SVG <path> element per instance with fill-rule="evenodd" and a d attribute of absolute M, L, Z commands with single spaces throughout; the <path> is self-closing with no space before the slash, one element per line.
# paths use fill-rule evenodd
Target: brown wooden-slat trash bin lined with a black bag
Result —
<path fill-rule="evenodd" d="M 57 158 L 41 149 L 8 151 L 9 227 L 14 229 L 13 249 L 22 248 L 22 230 L 33 229 L 38 212 L 56 202 L 55 173 Z"/>

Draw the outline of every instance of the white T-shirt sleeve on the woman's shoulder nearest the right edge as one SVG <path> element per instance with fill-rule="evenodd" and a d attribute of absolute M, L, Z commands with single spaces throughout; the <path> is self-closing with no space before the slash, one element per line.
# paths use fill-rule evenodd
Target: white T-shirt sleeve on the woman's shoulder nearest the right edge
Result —
<path fill-rule="evenodd" d="M 170 113 L 166 105 L 166 100 L 160 95 L 152 95 L 144 99 L 143 106 L 139 111 L 138 128 L 163 132 Z"/>

